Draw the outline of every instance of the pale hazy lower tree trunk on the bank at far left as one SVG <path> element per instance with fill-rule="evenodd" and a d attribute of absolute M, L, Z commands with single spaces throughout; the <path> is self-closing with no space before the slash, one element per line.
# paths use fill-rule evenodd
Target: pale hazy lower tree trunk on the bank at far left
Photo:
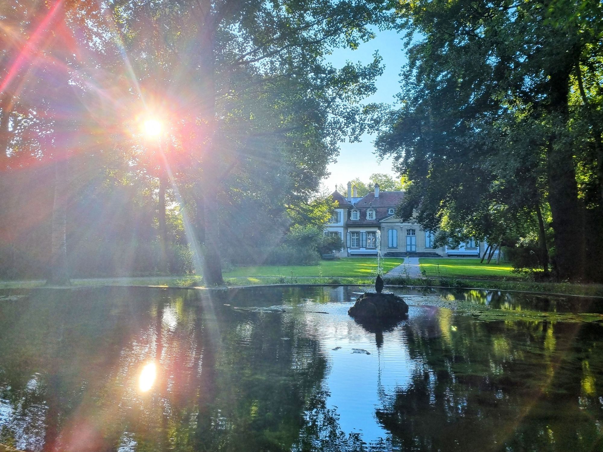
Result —
<path fill-rule="evenodd" d="M 46 284 L 69 284 L 67 263 L 67 160 L 55 161 L 54 201 L 52 202 L 52 231 L 50 269 Z"/>

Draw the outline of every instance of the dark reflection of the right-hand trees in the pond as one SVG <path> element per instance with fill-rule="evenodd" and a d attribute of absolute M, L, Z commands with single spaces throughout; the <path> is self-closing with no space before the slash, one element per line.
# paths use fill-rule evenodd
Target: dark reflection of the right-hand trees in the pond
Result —
<path fill-rule="evenodd" d="M 403 450 L 601 448 L 599 325 L 425 315 L 405 330 L 416 371 L 377 410 Z"/>

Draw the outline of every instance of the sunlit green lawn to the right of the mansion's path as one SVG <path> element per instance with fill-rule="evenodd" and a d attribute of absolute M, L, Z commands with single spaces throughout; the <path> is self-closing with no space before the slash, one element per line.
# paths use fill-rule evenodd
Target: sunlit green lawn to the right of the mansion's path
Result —
<path fill-rule="evenodd" d="M 429 259 L 418 260 L 421 271 L 429 277 L 445 276 L 454 278 L 488 278 L 509 277 L 517 275 L 511 273 L 513 267 L 508 263 L 490 264 L 479 263 L 479 259 Z M 439 272 L 439 273 L 438 273 Z"/>

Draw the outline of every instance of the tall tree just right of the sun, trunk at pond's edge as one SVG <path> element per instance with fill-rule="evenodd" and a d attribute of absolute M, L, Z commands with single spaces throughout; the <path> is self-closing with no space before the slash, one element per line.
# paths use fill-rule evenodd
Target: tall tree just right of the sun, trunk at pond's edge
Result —
<path fill-rule="evenodd" d="M 257 118 L 249 107 L 262 105 L 263 113 L 270 110 L 272 120 L 280 119 L 268 134 L 289 141 L 295 162 L 289 175 L 301 183 L 298 196 L 307 193 L 305 179 L 324 174 L 339 138 L 364 130 L 358 101 L 374 90 L 373 78 L 380 74 L 378 58 L 367 67 L 349 63 L 336 70 L 324 55 L 370 39 L 367 24 L 382 14 L 382 4 L 117 2 L 113 13 L 130 54 L 146 66 L 145 77 L 177 96 L 194 162 L 188 179 L 203 196 L 204 278 L 219 284 L 218 198 L 224 179 L 238 173 L 239 152 L 253 144 L 253 136 L 241 134 L 241 125 Z M 160 91 L 154 87 L 156 95 L 164 95 Z M 237 134 L 229 133 L 232 125 Z"/>

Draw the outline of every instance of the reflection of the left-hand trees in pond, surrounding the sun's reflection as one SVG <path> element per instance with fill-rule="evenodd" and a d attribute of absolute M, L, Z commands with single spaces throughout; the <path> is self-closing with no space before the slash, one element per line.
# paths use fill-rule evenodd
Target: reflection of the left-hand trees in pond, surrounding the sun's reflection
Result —
<path fill-rule="evenodd" d="M 326 407 L 326 357 L 302 321 L 223 306 L 245 292 L 200 294 L 37 292 L 27 309 L 2 306 L 0 391 L 20 420 L 0 419 L 0 441 L 74 451 L 360 447 Z M 265 294 L 264 304 L 282 296 Z M 150 360 L 157 381 L 141 394 Z"/>

